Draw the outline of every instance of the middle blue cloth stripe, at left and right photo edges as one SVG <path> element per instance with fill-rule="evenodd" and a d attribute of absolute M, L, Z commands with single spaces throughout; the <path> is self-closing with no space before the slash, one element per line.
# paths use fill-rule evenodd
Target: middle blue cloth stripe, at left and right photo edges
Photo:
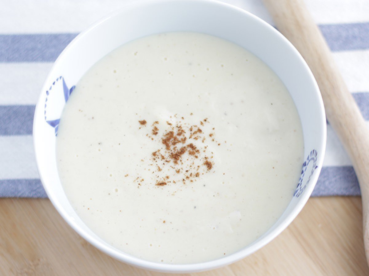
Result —
<path fill-rule="evenodd" d="M 369 92 L 352 93 L 366 121 L 369 121 Z M 31 135 L 33 105 L 0 106 L 0 136 Z"/>

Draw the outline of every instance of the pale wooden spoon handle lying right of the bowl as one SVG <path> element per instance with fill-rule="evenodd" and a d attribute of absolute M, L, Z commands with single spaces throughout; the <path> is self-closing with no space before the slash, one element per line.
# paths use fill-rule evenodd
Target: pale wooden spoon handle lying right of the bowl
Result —
<path fill-rule="evenodd" d="M 264 0 L 278 30 L 299 50 L 314 74 L 328 121 L 348 152 L 358 177 L 364 245 L 369 261 L 369 130 L 303 0 Z"/>

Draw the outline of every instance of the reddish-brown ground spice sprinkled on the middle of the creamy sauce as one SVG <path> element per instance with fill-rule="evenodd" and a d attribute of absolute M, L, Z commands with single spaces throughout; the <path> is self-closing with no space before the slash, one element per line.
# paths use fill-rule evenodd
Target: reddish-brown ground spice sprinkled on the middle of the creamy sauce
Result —
<path fill-rule="evenodd" d="M 214 139 L 214 128 L 209 125 L 211 133 L 204 131 L 206 124 L 210 124 L 208 118 L 199 121 L 198 125 L 188 124 L 184 117 L 177 115 L 171 119 L 172 121 L 154 121 L 150 128 L 139 128 L 141 131 L 147 131 L 146 137 L 157 143 L 156 151 L 144 158 L 149 162 L 149 170 L 156 179 L 155 183 L 151 184 L 156 186 L 178 182 L 187 184 L 210 173 L 214 170 L 214 156 L 213 152 L 208 150 L 206 141 L 217 146 L 221 145 Z M 138 122 L 140 125 L 148 125 L 146 120 Z M 141 184 L 142 182 L 139 185 Z"/>

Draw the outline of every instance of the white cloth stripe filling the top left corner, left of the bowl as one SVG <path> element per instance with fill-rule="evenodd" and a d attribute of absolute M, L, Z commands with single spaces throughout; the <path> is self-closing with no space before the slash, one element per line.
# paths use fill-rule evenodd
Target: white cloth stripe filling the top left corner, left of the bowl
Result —
<path fill-rule="evenodd" d="M 0 33 L 80 32 L 133 0 L 2 1 Z"/>

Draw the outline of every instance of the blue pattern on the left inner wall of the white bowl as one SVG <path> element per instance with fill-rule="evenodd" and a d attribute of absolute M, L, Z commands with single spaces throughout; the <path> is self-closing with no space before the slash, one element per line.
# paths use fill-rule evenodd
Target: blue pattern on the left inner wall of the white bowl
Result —
<path fill-rule="evenodd" d="M 56 78 L 56 80 L 52 83 L 52 85 L 50 85 L 50 88 L 46 91 L 45 107 L 44 107 L 45 121 L 55 129 L 55 135 L 58 134 L 58 126 L 60 122 L 61 110 L 56 109 L 55 106 L 53 105 L 50 106 L 48 101 L 50 100 L 51 96 L 55 98 L 57 96 L 60 96 L 60 93 L 63 93 L 65 104 L 74 89 L 75 89 L 74 85 L 71 88 L 68 88 L 65 79 L 63 78 L 63 76 L 60 76 Z M 50 120 L 48 118 L 52 119 Z"/>

